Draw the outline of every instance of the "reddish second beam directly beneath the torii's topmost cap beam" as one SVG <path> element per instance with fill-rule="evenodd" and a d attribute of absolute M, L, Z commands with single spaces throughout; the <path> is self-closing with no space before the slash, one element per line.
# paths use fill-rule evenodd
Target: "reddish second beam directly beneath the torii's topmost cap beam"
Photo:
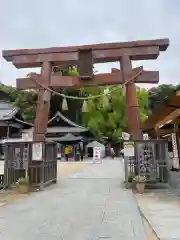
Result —
<path fill-rule="evenodd" d="M 93 50 L 93 63 L 116 62 L 121 56 L 128 55 L 131 60 L 156 59 L 159 47 L 134 47 L 109 50 Z M 40 67 L 44 61 L 58 64 L 78 64 L 78 52 L 44 53 L 13 56 L 12 63 L 17 68 Z"/>

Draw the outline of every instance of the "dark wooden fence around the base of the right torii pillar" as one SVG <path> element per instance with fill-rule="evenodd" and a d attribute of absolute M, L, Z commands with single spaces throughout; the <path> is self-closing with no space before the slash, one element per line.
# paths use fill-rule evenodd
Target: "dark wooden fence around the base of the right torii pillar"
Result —
<path fill-rule="evenodd" d="M 136 175 L 145 176 L 148 182 L 167 183 L 169 177 L 167 144 L 168 142 L 164 140 L 124 141 L 126 183 L 132 182 Z"/>

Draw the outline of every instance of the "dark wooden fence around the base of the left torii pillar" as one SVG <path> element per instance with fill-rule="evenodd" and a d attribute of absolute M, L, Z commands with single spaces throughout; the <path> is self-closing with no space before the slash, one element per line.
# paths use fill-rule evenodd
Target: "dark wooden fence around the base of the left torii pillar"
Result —
<path fill-rule="evenodd" d="M 3 187 L 10 188 L 21 177 L 31 186 L 43 188 L 57 180 L 57 147 L 54 142 L 13 142 L 4 144 Z"/>

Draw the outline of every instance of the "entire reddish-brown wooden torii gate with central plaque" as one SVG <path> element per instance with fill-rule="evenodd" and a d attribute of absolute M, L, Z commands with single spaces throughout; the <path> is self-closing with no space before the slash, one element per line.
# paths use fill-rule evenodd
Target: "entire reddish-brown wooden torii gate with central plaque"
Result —
<path fill-rule="evenodd" d="M 47 131 L 51 92 L 46 88 L 70 88 L 97 85 L 123 84 L 128 79 L 136 83 L 158 83 L 158 71 L 143 71 L 142 67 L 132 68 L 132 60 L 157 59 L 160 51 L 169 46 L 169 39 L 143 40 L 123 43 L 103 43 L 72 47 L 42 49 L 5 50 L 3 57 L 16 68 L 41 67 L 41 74 L 31 73 L 17 79 L 21 89 L 38 88 L 38 104 L 34 125 L 34 140 L 44 141 Z M 93 63 L 120 62 L 121 70 L 93 75 Z M 78 65 L 80 76 L 62 76 L 53 71 L 54 66 L 67 68 Z M 140 113 L 134 80 L 126 84 L 128 107 L 128 131 L 133 140 L 141 138 Z M 44 96 L 46 94 L 46 101 Z"/>

